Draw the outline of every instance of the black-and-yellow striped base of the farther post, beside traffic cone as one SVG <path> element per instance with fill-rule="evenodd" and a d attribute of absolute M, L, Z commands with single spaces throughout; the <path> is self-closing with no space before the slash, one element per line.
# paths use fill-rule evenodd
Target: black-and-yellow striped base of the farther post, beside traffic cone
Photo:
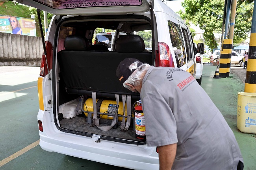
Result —
<path fill-rule="evenodd" d="M 224 39 L 222 42 L 221 57 L 219 59 L 219 77 L 229 77 L 232 44 L 232 39 Z"/>

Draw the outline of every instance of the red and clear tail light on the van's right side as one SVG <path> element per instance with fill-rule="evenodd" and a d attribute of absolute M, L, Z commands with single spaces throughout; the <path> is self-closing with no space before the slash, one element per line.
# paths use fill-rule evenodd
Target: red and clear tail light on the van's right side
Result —
<path fill-rule="evenodd" d="M 171 50 L 164 42 L 158 42 L 158 51 L 156 51 L 156 66 L 174 67 Z"/>

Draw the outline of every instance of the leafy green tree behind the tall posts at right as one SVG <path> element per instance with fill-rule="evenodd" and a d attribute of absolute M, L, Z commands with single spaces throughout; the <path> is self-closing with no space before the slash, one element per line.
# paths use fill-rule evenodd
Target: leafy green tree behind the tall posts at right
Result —
<path fill-rule="evenodd" d="M 250 30 L 253 2 L 249 1 L 245 0 L 241 5 L 237 5 L 234 44 L 246 39 Z M 184 12 L 179 11 L 179 15 L 187 24 L 193 23 L 204 30 L 205 42 L 211 50 L 217 48 L 213 33 L 222 31 L 224 0 L 184 0 L 182 6 Z"/>

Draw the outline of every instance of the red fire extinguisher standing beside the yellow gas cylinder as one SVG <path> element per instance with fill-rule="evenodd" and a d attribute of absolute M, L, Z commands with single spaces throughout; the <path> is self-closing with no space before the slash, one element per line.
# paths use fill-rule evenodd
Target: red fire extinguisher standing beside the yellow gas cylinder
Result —
<path fill-rule="evenodd" d="M 142 111 L 141 102 L 137 102 L 137 106 L 134 108 L 135 117 L 135 137 L 146 141 L 146 127 L 145 116 Z"/>

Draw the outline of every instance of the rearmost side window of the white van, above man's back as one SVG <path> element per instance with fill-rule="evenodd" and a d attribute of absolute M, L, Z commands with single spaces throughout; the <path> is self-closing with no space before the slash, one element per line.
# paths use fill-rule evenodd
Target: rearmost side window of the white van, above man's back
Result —
<path fill-rule="evenodd" d="M 182 33 L 180 30 L 180 26 L 178 24 L 175 24 L 168 20 L 168 26 L 169 26 L 169 33 L 171 42 L 173 44 L 173 50 L 175 53 L 175 58 L 177 62 L 177 67 L 181 67 L 184 64 L 186 64 L 186 53 L 185 53 L 185 47 L 184 42 L 182 39 Z"/>

